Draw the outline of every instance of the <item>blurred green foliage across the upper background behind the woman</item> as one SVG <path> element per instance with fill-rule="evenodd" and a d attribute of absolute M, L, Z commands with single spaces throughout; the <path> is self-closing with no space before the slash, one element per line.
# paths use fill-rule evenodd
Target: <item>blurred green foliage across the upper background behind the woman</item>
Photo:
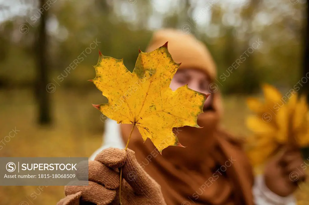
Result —
<path fill-rule="evenodd" d="M 56 1 L 49 8 L 49 79 L 59 80 L 63 75 L 67 77 L 61 86 L 88 88 L 84 79 L 94 74 L 89 64 L 96 62 L 98 48 L 106 56 L 123 58 L 125 66 L 133 70 L 138 54 L 132 51 L 145 50 L 152 28 L 181 29 L 189 25 L 190 32 L 208 46 L 215 59 L 222 92 L 252 93 L 262 82 L 283 87 L 295 85 L 302 65 L 304 18 L 299 14 L 304 11 L 304 4 L 264 0 L 234 6 L 231 12 L 220 2 L 195 5 L 189 0 L 164 5 L 133 0 Z M 39 21 L 30 20 L 37 8 L 33 11 L 0 22 L 0 85 L 8 86 L 11 81 L 16 86 L 34 83 L 36 48 L 33 43 Z M 210 20 L 205 22 L 208 13 Z M 29 26 L 27 34 L 19 32 L 22 24 Z M 67 74 L 65 69 L 96 39 L 99 46 Z M 258 39 L 263 44 L 237 69 L 229 71 Z M 222 81 L 221 75 L 228 77 Z"/>

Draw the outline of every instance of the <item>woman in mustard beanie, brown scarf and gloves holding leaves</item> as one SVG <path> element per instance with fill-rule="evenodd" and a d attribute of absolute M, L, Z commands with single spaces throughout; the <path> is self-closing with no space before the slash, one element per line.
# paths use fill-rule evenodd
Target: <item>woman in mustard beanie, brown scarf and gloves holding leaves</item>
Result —
<path fill-rule="evenodd" d="M 254 179 L 242 143 L 220 128 L 222 101 L 214 86 L 216 67 L 209 51 L 190 34 L 160 30 L 146 52 L 167 41 L 173 60 L 182 63 L 171 89 L 188 84 L 198 92 L 212 92 L 204 113 L 198 116 L 198 125 L 203 128 L 174 128 L 185 148 L 170 146 L 160 155 L 149 139 L 143 143 L 137 128 L 125 152 L 132 125 L 108 120 L 104 145 L 89 162 L 89 186 L 67 186 L 67 197 L 59 204 L 119 204 L 120 167 L 124 177 L 122 204 L 295 204 L 291 194 L 298 185 L 289 174 L 295 171 L 299 181 L 305 179 L 298 170 L 303 163 L 299 151 L 288 149 L 270 159 L 265 174 Z"/>

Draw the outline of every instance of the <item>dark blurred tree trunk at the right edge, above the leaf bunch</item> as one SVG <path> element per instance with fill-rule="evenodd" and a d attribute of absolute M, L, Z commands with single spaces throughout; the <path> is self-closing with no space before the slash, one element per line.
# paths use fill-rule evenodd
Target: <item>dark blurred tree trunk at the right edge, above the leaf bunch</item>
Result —
<path fill-rule="evenodd" d="M 307 73 L 309 73 L 309 0 L 307 0 L 307 12 L 306 12 L 306 25 L 305 25 L 305 32 L 304 32 L 304 59 L 303 59 L 303 76 L 307 77 Z M 303 90 L 304 93 L 307 94 L 307 100 L 309 102 L 309 83 L 305 83 Z"/>

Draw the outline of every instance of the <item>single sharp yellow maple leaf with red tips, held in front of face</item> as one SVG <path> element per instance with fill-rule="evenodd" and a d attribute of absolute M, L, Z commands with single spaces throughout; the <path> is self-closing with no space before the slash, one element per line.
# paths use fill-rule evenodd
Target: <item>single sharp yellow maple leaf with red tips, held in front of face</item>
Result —
<path fill-rule="evenodd" d="M 144 141 L 150 138 L 160 153 L 168 146 L 182 146 L 172 128 L 199 127 L 197 115 L 203 112 L 208 95 L 187 85 L 171 90 L 169 85 L 179 66 L 167 43 L 148 53 L 139 51 L 132 73 L 122 59 L 100 53 L 92 81 L 108 103 L 94 107 L 117 123 L 138 127 Z"/>

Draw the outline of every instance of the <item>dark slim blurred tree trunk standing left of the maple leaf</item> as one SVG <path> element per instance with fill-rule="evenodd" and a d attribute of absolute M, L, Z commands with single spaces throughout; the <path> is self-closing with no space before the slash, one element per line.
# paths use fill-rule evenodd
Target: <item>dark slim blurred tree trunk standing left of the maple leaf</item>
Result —
<path fill-rule="evenodd" d="M 43 8 L 45 0 L 40 0 L 39 8 Z M 50 101 L 49 93 L 46 90 L 48 84 L 48 62 L 47 62 L 47 34 L 46 34 L 46 19 L 48 10 L 44 10 L 40 16 L 40 25 L 38 26 L 36 40 L 36 88 L 35 91 L 38 103 L 38 123 L 50 124 Z"/>

